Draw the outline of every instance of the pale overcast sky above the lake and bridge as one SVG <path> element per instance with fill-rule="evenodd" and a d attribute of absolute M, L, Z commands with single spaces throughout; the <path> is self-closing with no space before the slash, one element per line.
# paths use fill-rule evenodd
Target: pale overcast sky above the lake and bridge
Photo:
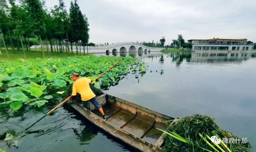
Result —
<path fill-rule="evenodd" d="M 64 0 L 69 12 L 71 0 Z M 46 0 L 48 8 L 58 0 Z M 78 0 L 90 42 L 230 38 L 256 42 L 256 0 Z"/>

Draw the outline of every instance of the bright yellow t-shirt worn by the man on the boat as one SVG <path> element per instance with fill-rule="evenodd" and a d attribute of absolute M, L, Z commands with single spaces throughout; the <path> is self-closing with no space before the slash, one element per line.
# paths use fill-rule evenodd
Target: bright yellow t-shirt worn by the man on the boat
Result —
<path fill-rule="evenodd" d="M 73 84 L 72 95 L 80 94 L 82 101 L 87 101 L 95 97 L 96 95 L 89 86 L 91 81 L 92 80 L 88 78 L 79 78 L 76 80 Z"/>

